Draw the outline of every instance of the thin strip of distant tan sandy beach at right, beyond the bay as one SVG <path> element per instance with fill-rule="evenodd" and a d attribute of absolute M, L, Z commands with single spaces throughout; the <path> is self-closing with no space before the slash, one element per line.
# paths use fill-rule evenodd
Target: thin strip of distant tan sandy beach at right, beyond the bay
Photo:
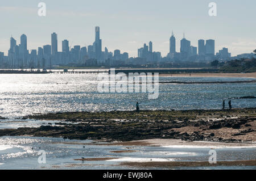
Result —
<path fill-rule="evenodd" d="M 192 73 L 192 74 L 159 74 L 161 77 L 241 77 L 256 78 L 256 72 L 253 73 Z"/>

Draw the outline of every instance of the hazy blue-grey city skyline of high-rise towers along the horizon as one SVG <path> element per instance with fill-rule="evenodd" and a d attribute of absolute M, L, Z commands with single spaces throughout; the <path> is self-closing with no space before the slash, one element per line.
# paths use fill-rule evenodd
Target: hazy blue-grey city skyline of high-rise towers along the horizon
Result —
<path fill-rule="evenodd" d="M 185 37 L 180 40 L 180 51 L 176 50 L 176 38 L 172 31 L 167 56 L 162 56 L 161 52 L 156 52 L 152 41 L 143 44 L 138 48 L 136 57 L 130 57 L 129 53 L 121 52 L 115 49 L 109 51 L 107 47 L 102 51 L 102 39 L 100 38 L 100 27 L 95 27 L 95 40 L 93 44 L 87 47 L 81 45 L 69 46 L 69 40 L 60 40 L 61 51 L 58 49 L 58 35 L 56 32 L 51 33 L 51 45 L 41 45 L 37 49 L 27 49 L 27 36 L 20 36 L 20 44 L 10 37 L 10 48 L 8 54 L 0 52 L 1 68 L 51 68 L 52 65 L 69 65 L 84 64 L 86 66 L 116 66 L 116 65 L 143 65 L 159 64 L 160 62 L 209 62 L 213 60 L 227 61 L 232 58 L 250 58 L 254 57 L 253 53 L 245 53 L 240 57 L 232 57 L 228 48 L 216 52 L 215 40 L 199 39 L 197 47 L 191 45 L 191 41 Z M 60 47 L 60 46 L 59 46 Z M 198 49 L 198 51 L 197 51 Z M 138 59 L 140 58 L 140 59 Z"/>

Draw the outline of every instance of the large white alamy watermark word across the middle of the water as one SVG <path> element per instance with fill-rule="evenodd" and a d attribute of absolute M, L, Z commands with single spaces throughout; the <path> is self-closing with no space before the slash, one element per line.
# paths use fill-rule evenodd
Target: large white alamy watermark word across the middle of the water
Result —
<path fill-rule="evenodd" d="M 154 77 L 154 79 L 153 79 Z M 115 69 L 110 69 L 110 74 L 98 75 L 98 92 L 144 92 L 148 99 L 157 99 L 159 96 L 159 73 L 125 73 L 115 74 Z"/>

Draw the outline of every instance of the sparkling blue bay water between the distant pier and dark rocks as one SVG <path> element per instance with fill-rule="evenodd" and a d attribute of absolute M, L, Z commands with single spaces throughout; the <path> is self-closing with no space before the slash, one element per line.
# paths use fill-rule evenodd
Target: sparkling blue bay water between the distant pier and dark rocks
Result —
<path fill-rule="evenodd" d="M 159 81 L 237 81 L 251 78 L 159 77 Z M 147 93 L 100 93 L 97 74 L 0 74 L 0 116 L 65 111 L 219 109 L 222 100 L 256 96 L 256 83 L 160 84 L 158 99 Z M 227 104 L 228 102 L 226 102 Z M 256 99 L 233 99 L 232 107 L 256 107 Z"/>

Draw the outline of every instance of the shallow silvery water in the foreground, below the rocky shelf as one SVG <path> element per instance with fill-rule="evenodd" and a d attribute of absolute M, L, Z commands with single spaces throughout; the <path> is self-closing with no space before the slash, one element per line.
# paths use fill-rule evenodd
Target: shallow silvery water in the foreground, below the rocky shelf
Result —
<path fill-rule="evenodd" d="M 122 162 L 208 161 L 210 148 L 164 148 L 162 146 L 86 145 L 91 140 L 63 138 L 1 137 L 0 169 L 138 169 Z M 39 164 L 38 151 L 46 151 Z M 113 153 L 113 150 L 133 150 Z M 256 159 L 256 148 L 216 148 L 218 161 Z M 108 161 L 75 161 L 77 158 L 118 158 Z M 156 169 L 156 168 L 154 168 Z M 158 168 L 164 169 L 164 168 Z M 256 169 L 256 166 L 179 167 L 174 169 Z"/>

